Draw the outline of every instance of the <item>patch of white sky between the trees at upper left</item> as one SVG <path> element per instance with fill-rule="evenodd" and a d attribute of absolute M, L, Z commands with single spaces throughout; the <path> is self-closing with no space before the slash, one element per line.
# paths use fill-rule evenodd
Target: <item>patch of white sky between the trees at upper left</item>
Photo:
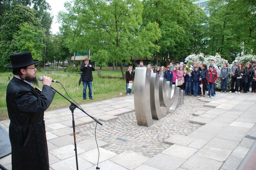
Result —
<path fill-rule="evenodd" d="M 53 16 L 51 31 L 52 31 L 52 34 L 57 34 L 57 32 L 59 31 L 58 27 L 61 26 L 61 24 L 57 23 L 57 15 L 59 11 L 65 11 L 64 3 L 67 2 L 68 0 L 46 0 L 46 1 L 47 3 L 49 3 L 49 5 L 52 8 L 52 10 L 49 11 L 49 13 L 52 14 Z"/>

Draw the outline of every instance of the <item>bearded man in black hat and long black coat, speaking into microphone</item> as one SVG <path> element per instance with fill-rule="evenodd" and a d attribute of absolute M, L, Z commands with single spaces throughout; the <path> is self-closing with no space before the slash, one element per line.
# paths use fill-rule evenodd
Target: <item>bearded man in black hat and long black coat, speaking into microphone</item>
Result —
<path fill-rule="evenodd" d="M 10 55 L 14 77 L 6 90 L 10 119 L 9 137 L 12 145 L 12 170 L 49 170 L 44 111 L 55 92 L 52 79 L 44 76 L 41 94 L 32 87 L 37 84 L 35 63 L 30 52 Z"/>

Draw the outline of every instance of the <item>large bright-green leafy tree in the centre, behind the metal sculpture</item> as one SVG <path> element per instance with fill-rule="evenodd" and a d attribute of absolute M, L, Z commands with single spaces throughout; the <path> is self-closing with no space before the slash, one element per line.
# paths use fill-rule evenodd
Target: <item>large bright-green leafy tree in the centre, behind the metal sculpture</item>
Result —
<path fill-rule="evenodd" d="M 160 30 L 156 23 L 142 26 L 140 0 L 74 0 L 73 4 L 66 16 L 70 16 L 69 23 L 73 23 L 69 27 L 77 31 L 73 34 L 77 37 L 73 39 L 74 44 L 80 47 L 79 51 L 90 48 L 97 53 L 104 50 L 109 54 L 109 61 L 120 65 L 123 77 L 125 60 L 132 56 L 151 57 L 152 52 L 159 49 L 153 42 L 160 37 Z M 95 61 L 103 63 L 105 59 L 96 55 Z"/>

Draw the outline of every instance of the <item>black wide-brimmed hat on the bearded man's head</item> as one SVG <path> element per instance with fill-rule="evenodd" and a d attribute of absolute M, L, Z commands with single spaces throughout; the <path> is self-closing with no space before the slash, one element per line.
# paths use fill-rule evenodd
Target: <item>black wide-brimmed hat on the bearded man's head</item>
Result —
<path fill-rule="evenodd" d="M 11 54 L 10 59 L 12 64 L 6 65 L 6 68 L 23 68 L 39 62 L 39 60 L 32 59 L 29 51 Z"/>

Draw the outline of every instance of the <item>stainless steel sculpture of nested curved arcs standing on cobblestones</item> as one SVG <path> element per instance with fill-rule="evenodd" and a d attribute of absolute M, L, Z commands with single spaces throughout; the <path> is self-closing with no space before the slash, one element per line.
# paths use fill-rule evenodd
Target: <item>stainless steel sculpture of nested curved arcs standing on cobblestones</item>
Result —
<path fill-rule="evenodd" d="M 150 126 L 152 119 L 161 119 L 183 104 L 183 90 L 151 73 L 147 68 L 136 68 L 134 77 L 134 107 L 137 124 Z"/>

